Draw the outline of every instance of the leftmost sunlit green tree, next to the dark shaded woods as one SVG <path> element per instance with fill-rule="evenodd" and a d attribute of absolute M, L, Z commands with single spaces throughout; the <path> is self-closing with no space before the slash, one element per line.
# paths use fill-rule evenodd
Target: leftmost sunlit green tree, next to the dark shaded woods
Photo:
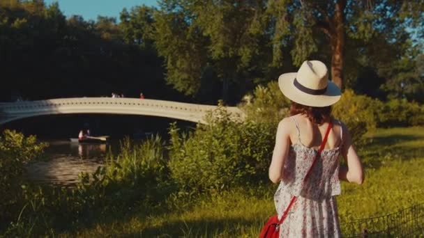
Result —
<path fill-rule="evenodd" d="M 159 1 L 154 14 L 154 35 L 158 54 L 165 58 L 166 80 L 185 95 L 195 96 L 200 88 L 202 70 L 207 63 L 207 39 L 192 24 L 186 1 Z"/>

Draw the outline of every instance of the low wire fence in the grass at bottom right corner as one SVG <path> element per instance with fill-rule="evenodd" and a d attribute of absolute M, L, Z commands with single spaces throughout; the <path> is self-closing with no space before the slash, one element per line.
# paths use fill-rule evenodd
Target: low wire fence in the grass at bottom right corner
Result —
<path fill-rule="evenodd" d="M 343 237 L 420 237 L 424 234 L 424 203 L 386 216 L 340 224 Z"/>

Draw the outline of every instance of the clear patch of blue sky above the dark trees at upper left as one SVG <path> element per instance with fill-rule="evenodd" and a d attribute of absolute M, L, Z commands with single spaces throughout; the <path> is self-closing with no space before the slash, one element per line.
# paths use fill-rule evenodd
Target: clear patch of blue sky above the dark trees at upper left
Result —
<path fill-rule="evenodd" d="M 132 6 L 158 6 L 156 0 L 44 0 L 46 5 L 59 2 L 62 13 L 70 15 L 82 15 L 85 20 L 96 20 L 98 15 L 116 17 L 119 21 L 119 13 L 123 8 L 130 10 Z"/>

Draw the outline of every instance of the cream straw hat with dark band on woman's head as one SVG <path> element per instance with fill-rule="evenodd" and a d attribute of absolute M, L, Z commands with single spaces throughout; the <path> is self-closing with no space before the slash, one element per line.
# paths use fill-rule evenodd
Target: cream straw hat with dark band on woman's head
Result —
<path fill-rule="evenodd" d="M 321 61 L 305 61 L 298 72 L 281 74 L 282 94 L 305 106 L 330 106 L 340 100 L 340 88 L 328 81 L 328 70 Z"/>

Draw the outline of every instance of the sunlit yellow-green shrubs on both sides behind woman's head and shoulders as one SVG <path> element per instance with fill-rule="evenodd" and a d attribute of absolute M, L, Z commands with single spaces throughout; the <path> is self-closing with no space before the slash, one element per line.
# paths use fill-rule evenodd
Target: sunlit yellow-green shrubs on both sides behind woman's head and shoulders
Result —
<path fill-rule="evenodd" d="M 252 95 L 245 96 L 240 106 L 248 120 L 271 122 L 276 125 L 289 115 L 290 101 L 282 95 L 278 83 L 257 86 Z M 363 136 L 373 133 L 377 127 L 424 125 L 424 105 L 407 100 L 392 99 L 382 102 L 366 95 L 357 95 L 346 89 L 333 106 L 335 119 L 345 122 L 356 143 L 363 143 Z"/>

